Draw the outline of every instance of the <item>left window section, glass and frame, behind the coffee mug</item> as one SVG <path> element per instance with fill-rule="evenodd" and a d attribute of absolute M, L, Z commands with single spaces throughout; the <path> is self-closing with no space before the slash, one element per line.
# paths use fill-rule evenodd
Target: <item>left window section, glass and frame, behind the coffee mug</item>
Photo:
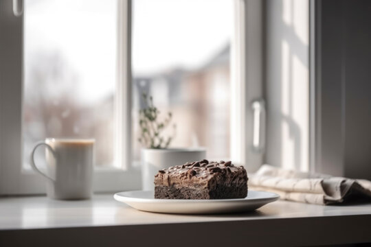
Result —
<path fill-rule="evenodd" d="M 47 136 L 100 140 L 94 191 L 139 189 L 123 121 L 130 2 L 25 1 L 24 13 L 14 3 L 0 1 L 0 193 L 45 191 L 27 152 Z"/>

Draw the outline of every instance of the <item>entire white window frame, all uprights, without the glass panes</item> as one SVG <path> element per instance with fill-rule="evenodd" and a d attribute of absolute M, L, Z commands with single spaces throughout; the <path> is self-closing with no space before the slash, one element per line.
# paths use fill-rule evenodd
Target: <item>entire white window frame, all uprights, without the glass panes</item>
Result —
<path fill-rule="evenodd" d="M 0 1 L 0 195 L 45 193 L 45 181 L 22 169 L 23 14 L 17 0 Z M 23 1 L 20 1 L 23 2 Z M 262 2 L 234 0 L 232 40 L 231 158 L 249 171 L 262 163 L 252 147 L 251 103 L 262 97 Z M 140 171 L 131 161 L 131 0 L 118 1 L 115 168 L 95 169 L 95 192 L 140 189 Z M 248 38 L 247 38 L 248 37 Z M 12 82 L 12 83 L 10 83 Z"/>

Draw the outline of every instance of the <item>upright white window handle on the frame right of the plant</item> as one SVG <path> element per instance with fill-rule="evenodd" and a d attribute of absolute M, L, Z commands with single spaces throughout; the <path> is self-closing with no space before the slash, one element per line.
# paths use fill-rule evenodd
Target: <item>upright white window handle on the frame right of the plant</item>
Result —
<path fill-rule="evenodd" d="M 253 110 L 253 145 L 254 152 L 262 153 L 265 150 L 265 102 L 263 99 L 251 103 Z"/>

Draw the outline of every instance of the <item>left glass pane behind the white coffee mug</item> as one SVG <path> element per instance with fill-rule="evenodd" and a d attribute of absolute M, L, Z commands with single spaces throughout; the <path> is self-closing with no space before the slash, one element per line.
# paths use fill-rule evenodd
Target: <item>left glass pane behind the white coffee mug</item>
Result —
<path fill-rule="evenodd" d="M 116 0 L 27 0 L 24 15 L 25 168 L 35 141 L 95 138 L 113 163 Z"/>

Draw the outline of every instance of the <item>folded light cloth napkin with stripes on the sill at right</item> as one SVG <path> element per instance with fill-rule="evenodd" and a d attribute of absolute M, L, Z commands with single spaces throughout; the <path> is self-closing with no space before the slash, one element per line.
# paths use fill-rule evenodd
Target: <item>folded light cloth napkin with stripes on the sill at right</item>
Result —
<path fill-rule="evenodd" d="M 371 199 L 371 181 L 311 174 L 262 165 L 249 176 L 249 189 L 278 193 L 283 200 L 311 204 Z"/>

